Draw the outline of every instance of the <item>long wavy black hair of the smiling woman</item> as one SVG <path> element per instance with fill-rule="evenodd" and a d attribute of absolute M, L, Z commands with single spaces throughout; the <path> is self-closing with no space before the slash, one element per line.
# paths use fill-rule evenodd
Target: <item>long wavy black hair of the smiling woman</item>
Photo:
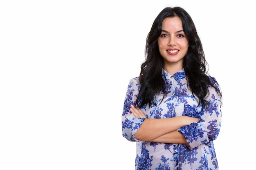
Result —
<path fill-rule="evenodd" d="M 204 107 L 207 104 L 205 97 L 208 94 L 209 85 L 215 88 L 222 96 L 218 83 L 211 81 L 208 74 L 208 63 L 205 60 L 201 40 L 198 36 L 195 24 L 191 16 L 181 7 L 166 7 L 155 18 L 151 30 L 148 33 L 145 47 L 145 61 L 141 64 L 139 81 L 141 88 L 137 97 L 137 106 L 146 104 L 156 105 L 153 100 L 159 92 L 166 94 L 164 89 L 164 79 L 162 78 L 162 68 L 164 60 L 159 53 L 157 39 L 162 33 L 162 22 L 166 17 L 180 17 L 186 37 L 189 39 L 188 52 L 184 57 L 184 71 L 189 87 L 194 96 L 198 97 L 199 105 Z M 222 98 L 222 97 L 221 97 Z"/>

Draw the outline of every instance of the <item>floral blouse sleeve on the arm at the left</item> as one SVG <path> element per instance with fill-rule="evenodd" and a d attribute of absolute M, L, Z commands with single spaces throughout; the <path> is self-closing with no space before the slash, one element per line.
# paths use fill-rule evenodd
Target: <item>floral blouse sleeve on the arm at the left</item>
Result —
<path fill-rule="evenodd" d="M 137 95 L 139 93 L 139 81 L 138 78 L 130 79 L 126 97 L 124 100 L 124 109 L 122 113 L 122 134 L 123 136 L 131 142 L 139 142 L 138 139 L 134 137 L 141 124 L 144 122 L 144 118 L 135 118 L 130 112 L 130 105 L 136 105 Z"/>

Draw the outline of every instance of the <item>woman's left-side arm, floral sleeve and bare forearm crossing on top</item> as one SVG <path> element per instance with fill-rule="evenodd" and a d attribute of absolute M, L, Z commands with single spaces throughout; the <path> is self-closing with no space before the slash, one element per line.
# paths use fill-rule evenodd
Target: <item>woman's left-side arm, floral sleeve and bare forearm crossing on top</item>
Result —
<path fill-rule="evenodd" d="M 154 142 L 157 142 L 157 140 L 159 139 L 159 142 L 164 142 L 164 140 L 170 137 L 171 135 L 177 135 L 177 132 L 170 133 L 171 131 L 175 131 L 176 129 L 188 125 L 191 122 L 198 122 L 197 118 L 190 118 L 188 116 L 180 116 L 166 119 L 146 119 L 146 116 L 142 111 L 141 112 L 143 113 L 144 116 L 132 115 L 133 113 L 132 110 L 130 110 L 130 108 L 131 105 L 136 104 L 139 89 L 139 78 L 132 78 L 128 84 L 128 89 L 124 100 L 124 109 L 121 117 L 122 135 L 127 140 L 131 142 L 139 142 L 140 140 L 154 140 Z M 182 140 L 182 138 L 178 139 Z M 166 142 L 168 143 L 168 141 Z"/>

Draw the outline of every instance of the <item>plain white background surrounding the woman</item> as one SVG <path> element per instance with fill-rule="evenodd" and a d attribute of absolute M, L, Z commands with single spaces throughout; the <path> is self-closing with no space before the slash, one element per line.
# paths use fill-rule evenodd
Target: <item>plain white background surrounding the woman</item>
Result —
<path fill-rule="evenodd" d="M 193 18 L 223 93 L 220 170 L 254 167 L 253 2 L 6 0 L 0 2 L 0 169 L 132 170 L 121 134 L 130 78 L 166 6 Z"/>

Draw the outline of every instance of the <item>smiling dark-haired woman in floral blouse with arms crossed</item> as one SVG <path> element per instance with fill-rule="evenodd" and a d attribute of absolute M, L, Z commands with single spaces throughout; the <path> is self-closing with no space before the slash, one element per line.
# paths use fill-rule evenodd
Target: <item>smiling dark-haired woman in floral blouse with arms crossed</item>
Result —
<path fill-rule="evenodd" d="M 222 94 L 190 15 L 166 7 L 146 40 L 140 76 L 128 85 L 122 133 L 137 142 L 136 170 L 216 170 Z"/>

